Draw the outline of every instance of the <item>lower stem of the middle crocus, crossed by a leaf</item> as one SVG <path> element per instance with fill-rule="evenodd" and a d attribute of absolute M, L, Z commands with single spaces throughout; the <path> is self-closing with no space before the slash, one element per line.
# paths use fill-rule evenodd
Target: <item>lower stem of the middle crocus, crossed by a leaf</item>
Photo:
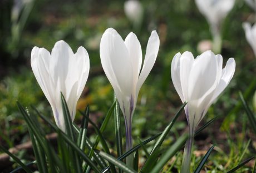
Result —
<path fill-rule="evenodd" d="M 129 118 L 129 117 L 128 117 Z M 126 136 L 126 152 L 132 149 L 132 136 L 131 136 L 131 120 L 126 120 L 125 118 L 125 136 Z M 126 157 L 126 165 L 133 167 L 134 165 L 134 155 L 131 154 Z"/>

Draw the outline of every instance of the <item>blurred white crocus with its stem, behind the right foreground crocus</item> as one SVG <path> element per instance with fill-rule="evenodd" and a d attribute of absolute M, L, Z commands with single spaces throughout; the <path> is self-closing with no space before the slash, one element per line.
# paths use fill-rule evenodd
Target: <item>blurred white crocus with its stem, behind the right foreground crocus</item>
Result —
<path fill-rule="evenodd" d="M 195 3 L 210 25 L 214 52 L 219 53 L 221 50 L 221 24 L 233 8 L 235 0 L 195 0 Z"/>

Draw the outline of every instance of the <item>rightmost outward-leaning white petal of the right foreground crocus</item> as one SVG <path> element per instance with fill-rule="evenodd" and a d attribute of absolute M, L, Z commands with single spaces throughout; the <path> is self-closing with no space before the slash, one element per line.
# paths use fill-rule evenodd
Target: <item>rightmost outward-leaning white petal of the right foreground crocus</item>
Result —
<path fill-rule="evenodd" d="M 221 92 L 228 86 L 235 72 L 235 60 L 234 58 L 229 58 L 225 68 L 222 70 L 222 75 L 219 81 L 218 86 L 215 89 L 213 98 L 211 98 L 211 102 L 213 102 Z"/>

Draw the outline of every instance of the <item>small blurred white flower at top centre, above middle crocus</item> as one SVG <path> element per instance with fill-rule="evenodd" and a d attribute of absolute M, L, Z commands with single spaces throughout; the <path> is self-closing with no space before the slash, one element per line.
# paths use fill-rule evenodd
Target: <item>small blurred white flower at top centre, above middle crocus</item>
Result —
<path fill-rule="evenodd" d="M 143 16 L 143 7 L 137 0 L 128 0 L 124 4 L 125 15 L 131 22 L 140 23 Z"/>

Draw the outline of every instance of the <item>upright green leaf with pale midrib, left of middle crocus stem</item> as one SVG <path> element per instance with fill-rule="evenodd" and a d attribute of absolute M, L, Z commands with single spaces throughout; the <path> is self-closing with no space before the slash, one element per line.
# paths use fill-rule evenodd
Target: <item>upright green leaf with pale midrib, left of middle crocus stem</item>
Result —
<path fill-rule="evenodd" d="M 116 101 L 116 96 L 114 94 L 114 102 Z M 114 122 L 115 122 L 115 135 L 116 135 L 116 150 L 117 156 L 122 155 L 122 132 L 121 132 L 121 123 L 120 123 L 120 108 L 119 103 L 116 102 L 114 110 Z"/>

